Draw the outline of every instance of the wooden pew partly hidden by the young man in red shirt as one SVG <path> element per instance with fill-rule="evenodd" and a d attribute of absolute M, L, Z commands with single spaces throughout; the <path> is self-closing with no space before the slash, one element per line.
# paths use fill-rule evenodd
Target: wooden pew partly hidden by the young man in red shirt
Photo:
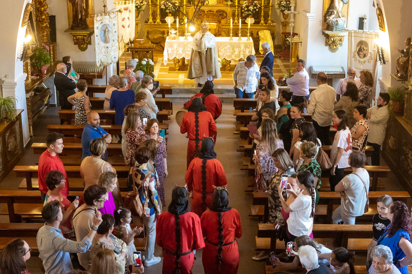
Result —
<path fill-rule="evenodd" d="M 80 166 L 65 166 L 69 178 L 80 178 Z M 127 178 L 129 176 L 129 166 L 116 166 L 117 177 Z M 26 178 L 28 190 L 33 190 L 32 178 L 38 177 L 39 166 L 15 166 L 13 168 L 17 178 Z M 69 181 L 70 182 L 70 181 Z"/>

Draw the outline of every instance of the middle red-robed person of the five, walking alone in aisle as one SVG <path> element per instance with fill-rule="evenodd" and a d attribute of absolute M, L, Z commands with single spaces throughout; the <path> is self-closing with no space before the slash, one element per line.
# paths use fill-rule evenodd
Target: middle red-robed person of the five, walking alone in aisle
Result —
<path fill-rule="evenodd" d="M 189 192 L 193 191 L 192 212 L 199 217 L 206 207 L 213 204 L 213 185 L 227 184 L 225 170 L 213 150 L 213 140 L 210 137 L 202 139 L 199 156 L 190 162 L 186 171 L 185 182 Z"/>

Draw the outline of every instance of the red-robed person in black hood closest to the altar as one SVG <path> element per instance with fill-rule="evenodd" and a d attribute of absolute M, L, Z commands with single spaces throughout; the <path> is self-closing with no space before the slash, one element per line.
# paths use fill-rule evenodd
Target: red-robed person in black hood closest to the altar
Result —
<path fill-rule="evenodd" d="M 218 119 L 220 114 L 222 114 L 222 102 L 213 91 L 212 81 L 206 81 L 204 87 L 200 90 L 200 92 L 194 94 L 192 98 L 190 98 L 190 101 L 187 101 L 185 103 L 185 109 L 187 109 L 192 104 L 194 97 L 200 97 L 202 99 L 203 104 L 206 106 L 206 111 L 210 112 L 214 120 Z"/>

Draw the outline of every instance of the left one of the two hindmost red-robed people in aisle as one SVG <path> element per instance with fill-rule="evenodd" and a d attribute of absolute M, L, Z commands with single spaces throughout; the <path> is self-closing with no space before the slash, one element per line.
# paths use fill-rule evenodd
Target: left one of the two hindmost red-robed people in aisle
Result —
<path fill-rule="evenodd" d="M 194 253 L 205 243 L 199 216 L 189 212 L 187 188 L 175 187 L 167 212 L 157 217 L 156 242 L 163 250 L 163 274 L 192 274 Z"/>

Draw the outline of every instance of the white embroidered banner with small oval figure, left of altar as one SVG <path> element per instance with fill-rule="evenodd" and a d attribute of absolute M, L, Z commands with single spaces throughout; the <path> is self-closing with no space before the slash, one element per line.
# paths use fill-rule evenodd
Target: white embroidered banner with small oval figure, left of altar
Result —
<path fill-rule="evenodd" d="M 96 65 L 107 66 L 119 58 L 117 44 L 117 20 L 114 14 L 94 17 L 94 41 L 96 45 Z"/>

